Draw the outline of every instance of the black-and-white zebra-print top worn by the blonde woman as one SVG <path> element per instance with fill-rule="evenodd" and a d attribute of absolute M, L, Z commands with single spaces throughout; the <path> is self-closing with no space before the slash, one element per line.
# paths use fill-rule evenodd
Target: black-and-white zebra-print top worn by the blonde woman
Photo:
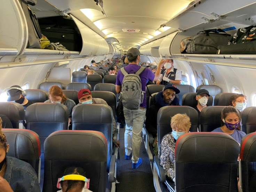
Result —
<path fill-rule="evenodd" d="M 165 174 L 174 180 L 174 163 L 175 163 L 175 140 L 171 134 L 163 136 L 160 144 L 160 165 L 163 166 Z"/>

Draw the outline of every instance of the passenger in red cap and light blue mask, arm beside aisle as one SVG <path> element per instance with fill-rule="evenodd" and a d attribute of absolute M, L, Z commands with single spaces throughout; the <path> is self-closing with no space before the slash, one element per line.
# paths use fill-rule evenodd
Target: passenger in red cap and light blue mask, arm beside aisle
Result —
<path fill-rule="evenodd" d="M 93 98 L 91 96 L 91 91 L 89 89 L 80 89 L 77 93 L 77 97 L 79 100 L 79 104 L 103 104 L 103 105 L 107 105 L 107 102 L 104 101 L 104 99 L 101 98 Z M 77 105 L 79 105 L 77 104 Z M 113 134 L 115 131 L 115 118 L 113 115 Z M 113 138 L 114 140 L 114 138 Z M 115 146 L 119 147 L 120 146 L 120 142 L 117 141 L 117 143 L 114 143 Z"/>

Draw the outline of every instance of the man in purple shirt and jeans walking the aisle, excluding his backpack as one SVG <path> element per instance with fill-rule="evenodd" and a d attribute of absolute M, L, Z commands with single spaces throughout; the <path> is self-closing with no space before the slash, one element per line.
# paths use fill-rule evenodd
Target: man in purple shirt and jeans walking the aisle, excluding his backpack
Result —
<path fill-rule="evenodd" d="M 127 51 L 126 55 L 129 64 L 124 67 L 127 73 L 135 73 L 141 67 L 139 62 L 141 62 L 140 52 L 137 48 L 131 48 Z M 158 68 L 155 74 L 148 68 L 139 74 L 141 78 L 142 91 L 146 91 L 146 83 L 148 81 L 156 81 L 160 75 L 160 69 L 165 64 L 165 59 L 161 59 L 158 63 Z M 115 91 L 120 93 L 122 81 L 124 75 L 121 70 L 117 73 L 117 80 L 115 85 Z M 145 115 L 146 115 L 146 93 L 144 93 L 143 103 L 140 105 L 139 109 L 127 109 L 123 107 L 123 113 L 125 115 L 126 128 L 125 128 L 125 159 L 129 160 L 131 153 L 132 157 L 132 168 L 137 169 L 141 163 L 142 159 L 139 158 L 139 150 L 141 147 L 141 131 L 144 125 Z M 133 148 L 132 148 L 133 147 Z"/>

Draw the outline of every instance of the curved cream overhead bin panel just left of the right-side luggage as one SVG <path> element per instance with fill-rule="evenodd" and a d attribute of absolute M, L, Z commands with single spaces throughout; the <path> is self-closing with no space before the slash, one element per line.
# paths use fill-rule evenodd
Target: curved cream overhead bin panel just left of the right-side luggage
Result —
<path fill-rule="evenodd" d="M 167 35 L 165 38 L 163 38 L 160 46 L 159 46 L 159 55 L 162 57 L 171 57 L 171 47 L 172 42 L 175 36 L 177 35 L 177 32 L 171 33 Z M 179 49 L 179 47 L 174 47 L 175 49 Z"/>

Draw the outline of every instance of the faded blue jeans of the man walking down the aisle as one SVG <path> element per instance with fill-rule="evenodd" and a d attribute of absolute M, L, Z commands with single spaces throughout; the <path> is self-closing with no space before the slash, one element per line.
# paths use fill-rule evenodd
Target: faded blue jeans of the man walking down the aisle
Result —
<path fill-rule="evenodd" d="M 125 115 L 125 153 L 133 153 L 131 160 L 137 163 L 139 160 L 139 150 L 141 148 L 141 131 L 144 125 L 146 109 L 126 109 L 123 107 Z"/>

